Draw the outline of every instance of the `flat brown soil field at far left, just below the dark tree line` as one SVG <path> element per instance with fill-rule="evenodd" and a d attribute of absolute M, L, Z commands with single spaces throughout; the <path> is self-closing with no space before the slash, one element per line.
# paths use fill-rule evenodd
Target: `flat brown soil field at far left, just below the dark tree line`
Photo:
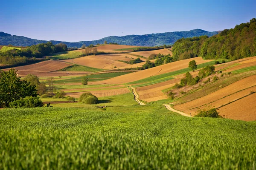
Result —
<path fill-rule="evenodd" d="M 48 60 L 48 61 L 38 62 L 36 64 L 15 67 L 15 70 L 47 73 L 47 72 L 51 72 L 51 71 L 58 71 L 62 68 L 70 66 L 70 65 L 72 65 L 72 64 L 67 63 L 67 62 Z M 7 70 L 9 70 L 9 69 L 7 69 Z"/>

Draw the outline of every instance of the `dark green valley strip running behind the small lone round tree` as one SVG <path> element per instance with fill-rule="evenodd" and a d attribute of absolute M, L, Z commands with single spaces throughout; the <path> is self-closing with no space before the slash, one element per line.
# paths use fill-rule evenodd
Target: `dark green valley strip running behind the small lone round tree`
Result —
<path fill-rule="evenodd" d="M 89 81 L 99 81 L 99 80 L 105 80 L 105 79 L 110 79 L 113 77 L 121 76 L 121 75 L 128 74 L 128 73 L 131 73 L 131 72 L 91 74 L 91 75 L 86 75 L 86 77 L 89 78 Z M 75 77 L 75 78 L 71 78 L 71 79 L 58 80 L 58 81 L 55 81 L 55 83 L 81 82 L 81 78 L 82 77 Z"/>

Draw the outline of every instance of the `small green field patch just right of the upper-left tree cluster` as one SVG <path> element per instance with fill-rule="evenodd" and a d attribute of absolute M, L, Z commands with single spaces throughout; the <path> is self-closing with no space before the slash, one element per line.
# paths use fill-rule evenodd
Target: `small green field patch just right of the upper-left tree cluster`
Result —
<path fill-rule="evenodd" d="M 78 58 L 79 55 L 82 54 L 82 51 L 73 50 L 73 51 L 63 51 L 59 53 L 53 53 L 51 56 L 51 59 L 74 59 Z"/>

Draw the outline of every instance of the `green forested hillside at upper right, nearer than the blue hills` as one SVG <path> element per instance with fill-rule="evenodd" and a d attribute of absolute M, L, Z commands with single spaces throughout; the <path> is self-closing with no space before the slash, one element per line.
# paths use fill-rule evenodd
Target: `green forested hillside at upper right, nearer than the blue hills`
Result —
<path fill-rule="evenodd" d="M 175 60 L 201 56 L 204 59 L 241 59 L 256 56 L 256 19 L 224 29 L 212 37 L 177 40 L 172 49 Z"/>

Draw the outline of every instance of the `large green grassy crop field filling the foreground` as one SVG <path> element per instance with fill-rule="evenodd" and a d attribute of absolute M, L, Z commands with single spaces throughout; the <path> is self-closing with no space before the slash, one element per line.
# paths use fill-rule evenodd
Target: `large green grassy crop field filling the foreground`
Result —
<path fill-rule="evenodd" d="M 122 98 L 120 98 L 122 99 Z M 255 169 L 256 122 L 163 105 L 0 110 L 1 169 Z"/>

